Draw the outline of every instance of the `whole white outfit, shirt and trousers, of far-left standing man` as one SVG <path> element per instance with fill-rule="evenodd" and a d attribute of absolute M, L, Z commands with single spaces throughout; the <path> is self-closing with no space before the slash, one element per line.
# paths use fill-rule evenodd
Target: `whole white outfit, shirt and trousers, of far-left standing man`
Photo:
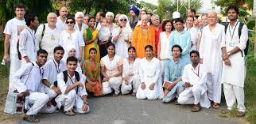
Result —
<path fill-rule="evenodd" d="M 17 39 L 21 34 L 21 31 L 25 28 L 25 20 L 17 20 L 16 18 L 7 21 L 6 28 L 3 33 L 10 35 L 10 79 L 13 77 L 14 73 L 20 69 L 21 60 L 17 57 Z M 14 91 L 14 86 L 12 81 L 9 80 L 9 91 Z"/>

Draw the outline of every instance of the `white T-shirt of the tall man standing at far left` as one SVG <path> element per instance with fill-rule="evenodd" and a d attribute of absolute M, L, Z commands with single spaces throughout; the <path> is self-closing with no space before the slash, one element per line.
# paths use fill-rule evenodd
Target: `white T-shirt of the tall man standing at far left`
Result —
<path fill-rule="evenodd" d="M 14 17 L 10 21 L 7 21 L 3 33 L 10 35 L 10 54 L 17 54 L 17 39 L 25 27 L 24 19 L 17 20 L 17 18 Z"/>

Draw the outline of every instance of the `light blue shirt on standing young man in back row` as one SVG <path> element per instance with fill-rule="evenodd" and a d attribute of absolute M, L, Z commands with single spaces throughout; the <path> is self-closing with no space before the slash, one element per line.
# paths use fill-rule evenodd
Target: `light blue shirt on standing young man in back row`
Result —
<path fill-rule="evenodd" d="M 191 48 L 190 32 L 183 30 L 182 32 L 173 31 L 171 33 L 170 49 L 174 45 L 179 45 L 182 48 L 181 58 L 187 64 L 190 63 L 189 52 Z"/>

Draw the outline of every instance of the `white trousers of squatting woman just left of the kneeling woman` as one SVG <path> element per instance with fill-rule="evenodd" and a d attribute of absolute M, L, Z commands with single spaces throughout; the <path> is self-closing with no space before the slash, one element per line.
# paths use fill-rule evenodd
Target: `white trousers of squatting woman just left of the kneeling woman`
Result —
<path fill-rule="evenodd" d="M 128 85 L 126 85 L 125 81 L 122 80 L 122 86 L 121 86 L 121 92 L 122 94 L 128 94 L 130 93 L 131 89 L 133 89 L 133 92 L 137 92 L 138 85 L 140 85 L 140 79 L 138 75 L 134 75 L 133 77 L 130 77 L 128 79 Z"/>

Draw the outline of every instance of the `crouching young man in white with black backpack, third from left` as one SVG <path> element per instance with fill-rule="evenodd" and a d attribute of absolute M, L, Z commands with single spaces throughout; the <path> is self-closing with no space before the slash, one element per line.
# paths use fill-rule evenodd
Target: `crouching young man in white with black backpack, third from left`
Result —
<path fill-rule="evenodd" d="M 78 113 L 88 113 L 90 108 L 87 104 L 87 92 L 85 89 L 86 77 L 79 73 L 80 81 L 76 80 L 77 58 L 69 57 L 67 59 L 68 80 L 64 81 L 64 72 L 57 76 L 57 86 L 60 88 L 61 94 L 56 97 L 57 106 L 64 106 L 66 115 L 75 115 L 72 110 Z"/>

